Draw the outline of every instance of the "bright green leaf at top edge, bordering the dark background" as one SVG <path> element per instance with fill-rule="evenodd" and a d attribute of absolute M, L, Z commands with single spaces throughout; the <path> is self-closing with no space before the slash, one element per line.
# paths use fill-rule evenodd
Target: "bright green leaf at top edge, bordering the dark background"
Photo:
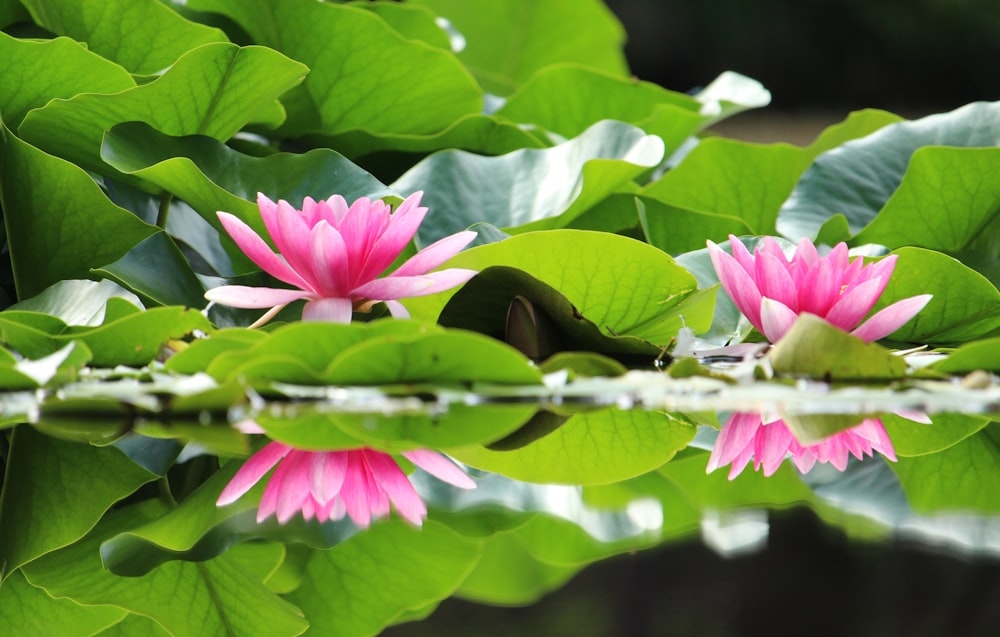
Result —
<path fill-rule="evenodd" d="M 516 0 L 473 7 L 462 0 L 417 0 L 465 38 L 458 57 L 484 89 L 507 95 L 535 71 L 572 62 L 624 77 L 625 33 L 595 0 Z"/>

